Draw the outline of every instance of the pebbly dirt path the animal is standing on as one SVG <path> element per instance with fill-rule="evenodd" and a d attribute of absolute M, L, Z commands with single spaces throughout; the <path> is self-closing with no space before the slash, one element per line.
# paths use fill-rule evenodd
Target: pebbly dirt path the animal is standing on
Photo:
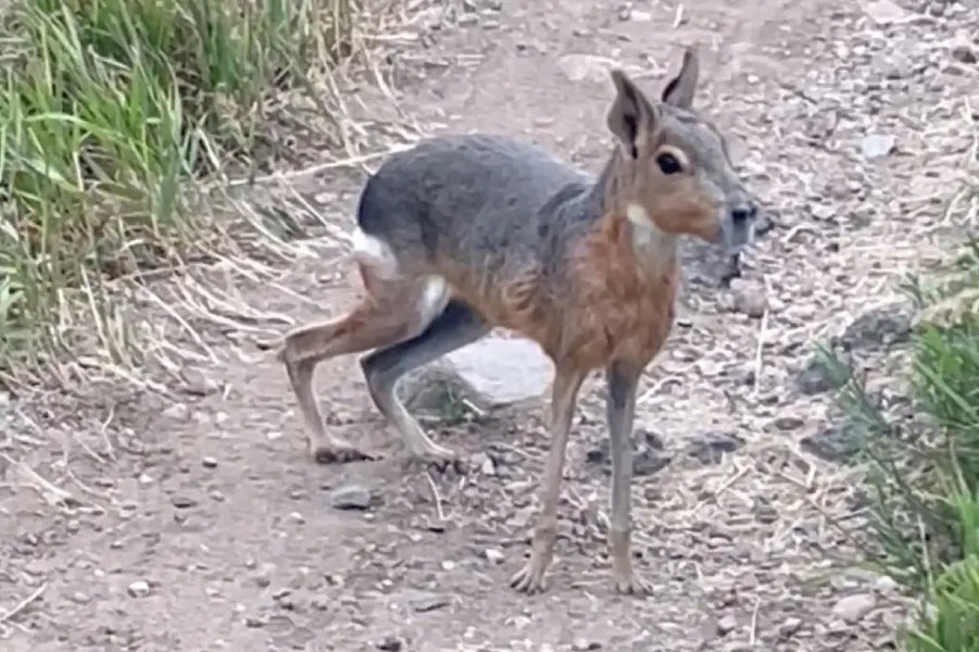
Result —
<path fill-rule="evenodd" d="M 845 330 L 873 361 L 878 339 L 905 333 L 888 297 L 941 235 L 972 138 L 961 96 L 979 88 L 977 66 L 950 50 L 979 35 L 979 18 L 940 0 L 906 5 L 890 26 L 842 0 L 689 3 L 679 26 L 672 3 L 635 2 L 628 20 L 585 0 L 501 4 L 415 53 L 429 77 L 402 106 L 421 124 L 525 135 L 594 168 L 611 98 L 595 58 L 648 71 L 658 90 L 678 46 L 698 43 L 699 104 L 740 142 L 776 225 L 749 256 L 746 298 L 706 283 L 714 267 L 698 261 L 710 252 L 690 250 L 683 324 L 641 389 L 638 428 L 669 460 L 637 478 L 639 566 L 655 595 L 619 598 L 607 582 L 597 383 L 575 426 L 552 588 L 528 599 L 506 582 L 536 513 L 538 411 L 434 426 L 438 441 L 493 461 L 492 475 L 434 478 L 438 525 L 425 474 L 307 461 L 281 369 L 215 333 L 206 373 L 219 387 L 197 381 L 208 396 L 186 404 L 101 394 L 0 406 L 4 450 L 84 502 L 52 510 L 8 468 L 0 617 L 36 599 L 0 620 L 4 649 L 893 649 L 903 615 L 887 584 L 843 569 L 831 521 L 849 526 L 859 503 L 850 472 L 814 453 L 831 457 L 838 441 L 830 396 L 802 372 L 814 341 Z M 894 151 L 868 160 L 889 138 Z M 346 228 L 355 196 L 322 184 Z M 335 314 L 349 300 L 337 269 L 301 260 L 280 284 Z M 264 312 L 316 314 L 267 286 L 239 290 Z M 744 314 L 757 292 L 762 319 Z M 318 387 L 335 427 L 389 446 L 353 360 L 323 365 Z M 373 490 L 372 507 L 334 509 L 329 490 L 344 482 Z"/>

